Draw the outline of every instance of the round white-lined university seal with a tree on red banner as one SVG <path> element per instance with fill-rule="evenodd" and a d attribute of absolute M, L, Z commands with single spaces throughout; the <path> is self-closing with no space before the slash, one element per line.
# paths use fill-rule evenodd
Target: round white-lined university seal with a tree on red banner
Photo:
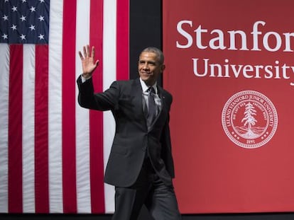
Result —
<path fill-rule="evenodd" d="M 266 95 L 256 91 L 234 94 L 222 110 L 222 127 L 234 144 L 246 149 L 263 146 L 278 126 L 276 108 Z"/>

